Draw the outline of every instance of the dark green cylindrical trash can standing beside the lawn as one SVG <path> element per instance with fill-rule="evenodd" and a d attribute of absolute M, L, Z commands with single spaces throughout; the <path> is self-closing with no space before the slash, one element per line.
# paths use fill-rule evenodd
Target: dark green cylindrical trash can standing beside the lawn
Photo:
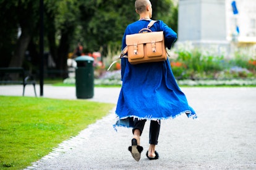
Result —
<path fill-rule="evenodd" d="M 75 90 L 77 98 L 93 98 L 94 95 L 94 72 L 93 57 L 79 56 L 75 58 Z"/>

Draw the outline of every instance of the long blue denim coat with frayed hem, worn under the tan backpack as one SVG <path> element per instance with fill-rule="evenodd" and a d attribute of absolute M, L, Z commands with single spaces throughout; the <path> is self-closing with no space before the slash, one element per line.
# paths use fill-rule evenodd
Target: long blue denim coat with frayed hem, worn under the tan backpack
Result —
<path fill-rule="evenodd" d="M 126 35 L 139 33 L 147 28 L 150 20 L 138 20 L 127 26 L 122 38 L 122 49 L 126 47 Z M 150 28 L 152 32 L 163 31 L 164 42 L 171 49 L 177 33 L 161 20 Z M 197 118 L 194 109 L 176 83 L 168 60 L 132 65 L 127 58 L 121 59 L 122 88 L 117 101 L 116 126 L 133 127 L 133 119 L 160 120 L 174 118 L 186 113 Z"/>

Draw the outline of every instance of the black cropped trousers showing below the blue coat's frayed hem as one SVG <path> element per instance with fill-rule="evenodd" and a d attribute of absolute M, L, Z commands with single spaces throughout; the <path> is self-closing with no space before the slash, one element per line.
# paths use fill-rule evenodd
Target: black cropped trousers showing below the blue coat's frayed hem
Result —
<path fill-rule="evenodd" d="M 132 134 L 134 134 L 135 129 L 140 130 L 140 135 L 142 135 L 146 119 L 138 120 L 134 119 L 134 128 L 132 129 Z M 157 145 L 158 137 L 160 132 L 161 121 L 150 121 L 150 133 L 149 133 L 149 143 L 153 145 Z"/>

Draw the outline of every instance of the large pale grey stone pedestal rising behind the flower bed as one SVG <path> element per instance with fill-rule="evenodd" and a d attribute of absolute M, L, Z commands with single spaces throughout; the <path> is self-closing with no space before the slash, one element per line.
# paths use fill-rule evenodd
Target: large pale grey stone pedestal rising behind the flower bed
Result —
<path fill-rule="evenodd" d="M 225 0 L 179 0 L 177 44 L 190 41 L 217 53 L 220 48 L 228 51 L 225 10 Z"/>

